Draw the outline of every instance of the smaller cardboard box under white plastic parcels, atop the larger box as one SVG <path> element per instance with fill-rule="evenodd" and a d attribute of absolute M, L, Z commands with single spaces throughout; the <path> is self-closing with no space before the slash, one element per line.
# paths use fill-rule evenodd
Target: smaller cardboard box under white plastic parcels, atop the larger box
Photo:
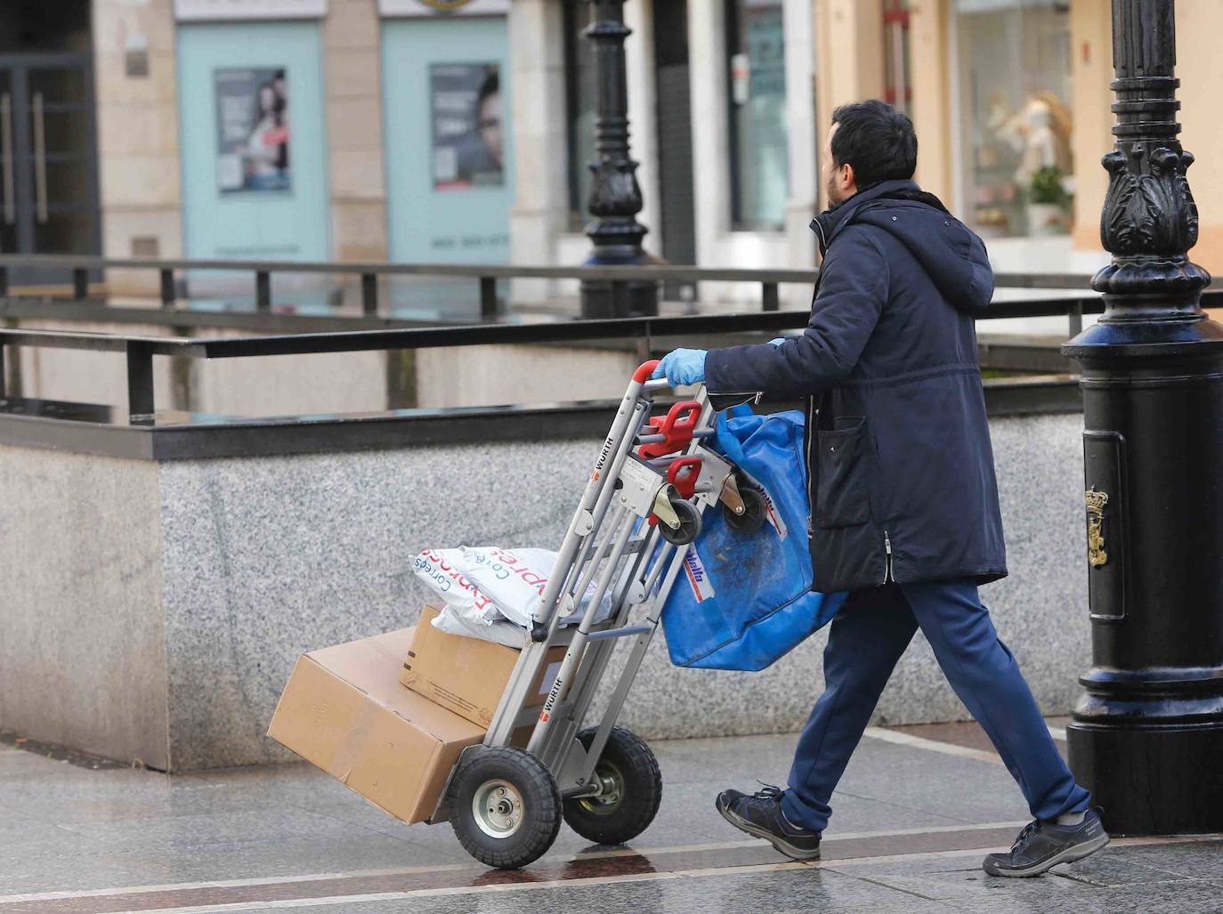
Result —
<path fill-rule="evenodd" d="M 488 727 L 519 662 L 519 651 L 476 637 L 449 635 L 433 628 L 438 607 L 427 606 L 406 652 L 400 682 L 472 723 Z M 527 707 L 543 705 L 565 659 L 564 645 L 548 651 L 548 663 L 534 684 Z"/>

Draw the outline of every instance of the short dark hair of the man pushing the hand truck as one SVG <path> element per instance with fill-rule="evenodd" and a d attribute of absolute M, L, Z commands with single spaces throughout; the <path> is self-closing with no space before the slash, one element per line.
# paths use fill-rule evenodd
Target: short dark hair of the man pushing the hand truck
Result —
<path fill-rule="evenodd" d="M 871 99 L 833 111 L 833 162 L 854 166 L 861 191 L 879 181 L 907 181 L 917 169 L 914 124 L 887 102 Z"/>

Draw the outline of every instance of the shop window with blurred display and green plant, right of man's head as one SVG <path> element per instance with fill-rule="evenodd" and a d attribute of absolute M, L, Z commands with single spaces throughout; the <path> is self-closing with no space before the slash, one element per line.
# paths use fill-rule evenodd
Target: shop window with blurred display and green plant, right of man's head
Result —
<path fill-rule="evenodd" d="M 983 236 L 1070 231 L 1068 0 L 955 0 L 959 176 Z"/>

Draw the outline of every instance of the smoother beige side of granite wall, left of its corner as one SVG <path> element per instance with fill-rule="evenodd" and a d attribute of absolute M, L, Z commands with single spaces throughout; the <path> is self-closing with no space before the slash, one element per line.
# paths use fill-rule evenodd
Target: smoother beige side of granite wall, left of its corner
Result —
<path fill-rule="evenodd" d="M 157 464 L 0 447 L 0 728 L 170 764 Z"/>

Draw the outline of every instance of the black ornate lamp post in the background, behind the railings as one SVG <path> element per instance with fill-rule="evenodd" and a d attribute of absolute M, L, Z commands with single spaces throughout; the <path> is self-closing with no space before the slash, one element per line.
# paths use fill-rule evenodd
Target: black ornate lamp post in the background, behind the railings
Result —
<path fill-rule="evenodd" d="M 594 44 L 594 73 L 598 104 L 594 120 L 594 150 L 591 163 L 594 182 L 589 210 L 594 217 L 586 235 L 594 250 L 591 266 L 632 266 L 649 262 L 641 247 L 646 226 L 637 221 L 641 187 L 637 163 L 629 155 L 629 81 L 624 42 L 632 31 L 624 24 L 625 0 L 587 0 L 594 7 L 586 37 Z M 582 283 L 582 317 L 627 317 L 658 313 L 658 284 L 637 280 L 616 284 Z"/>

